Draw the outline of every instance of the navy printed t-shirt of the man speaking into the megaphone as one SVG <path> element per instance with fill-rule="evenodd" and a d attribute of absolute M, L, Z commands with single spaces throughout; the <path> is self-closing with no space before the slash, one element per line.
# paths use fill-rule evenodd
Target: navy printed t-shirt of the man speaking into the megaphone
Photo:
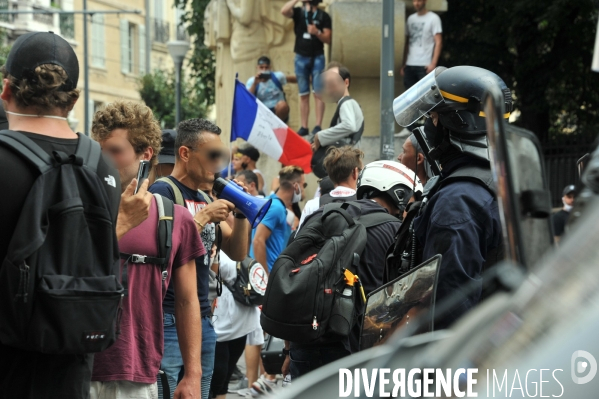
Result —
<path fill-rule="evenodd" d="M 204 196 L 202 196 L 198 191 L 192 190 L 191 188 L 183 185 L 172 176 L 168 176 L 168 178 L 171 179 L 177 185 L 177 187 L 179 187 L 179 190 L 181 190 L 181 194 L 185 200 L 185 206 L 187 209 L 189 209 L 189 212 L 191 212 L 192 215 L 195 215 L 199 210 L 208 205 L 204 199 Z M 175 193 L 168 183 L 160 181 L 156 182 L 152 184 L 152 186 L 149 188 L 149 191 L 154 194 L 160 194 L 175 202 Z M 209 316 L 212 312 L 212 309 L 210 307 L 210 302 L 208 301 L 208 270 L 210 269 L 210 249 L 212 248 L 214 241 L 216 241 L 216 226 L 214 223 L 206 224 L 206 227 L 204 227 L 202 230 L 201 238 L 202 242 L 204 243 L 204 247 L 206 248 L 207 254 L 196 259 L 198 298 L 200 300 L 202 316 Z M 164 301 L 162 302 L 162 308 L 164 309 L 164 313 L 175 313 L 175 290 L 173 288 L 172 279 L 168 285 L 168 290 L 166 291 Z"/>

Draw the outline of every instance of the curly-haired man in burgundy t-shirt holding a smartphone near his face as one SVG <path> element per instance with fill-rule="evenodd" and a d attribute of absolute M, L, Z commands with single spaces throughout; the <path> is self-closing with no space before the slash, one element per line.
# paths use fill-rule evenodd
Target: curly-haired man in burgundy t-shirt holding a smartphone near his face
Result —
<path fill-rule="evenodd" d="M 116 101 L 98 111 L 92 137 L 112 157 L 122 182 L 123 202 L 141 198 L 143 203 L 121 213 L 145 215 L 139 226 L 119 237 L 123 298 L 119 340 L 95 355 L 91 399 L 157 398 L 158 366 L 164 354 L 162 301 L 167 287 L 177 290 L 177 333 L 180 336 L 185 377 L 174 391 L 176 398 L 198 398 L 202 369 L 200 306 L 197 298 L 195 259 L 206 253 L 193 218 L 184 208 L 174 207 L 171 256 L 162 273 L 158 258 L 158 205 L 148 191 L 147 175 L 156 166 L 162 132 L 145 105 Z M 138 187 L 137 181 L 141 182 Z M 137 194 L 132 195 L 135 190 Z M 133 204 L 132 204 L 133 205 Z M 126 255 L 136 254 L 136 255 Z M 125 255 L 125 256 L 123 256 Z M 147 258 L 147 261 L 146 261 Z M 171 278 L 172 276 L 172 278 Z"/>

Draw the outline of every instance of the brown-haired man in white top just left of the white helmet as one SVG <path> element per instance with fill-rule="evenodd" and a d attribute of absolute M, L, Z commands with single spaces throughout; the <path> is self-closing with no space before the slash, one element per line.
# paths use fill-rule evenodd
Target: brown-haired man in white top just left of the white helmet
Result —
<path fill-rule="evenodd" d="M 331 148 L 324 158 L 324 167 L 335 188 L 328 194 L 306 202 L 302 217 L 296 231 L 302 227 L 304 220 L 319 208 L 331 202 L 356 200 L 358 176 L 364 168 L 364 153 L 351 146 Z"/>

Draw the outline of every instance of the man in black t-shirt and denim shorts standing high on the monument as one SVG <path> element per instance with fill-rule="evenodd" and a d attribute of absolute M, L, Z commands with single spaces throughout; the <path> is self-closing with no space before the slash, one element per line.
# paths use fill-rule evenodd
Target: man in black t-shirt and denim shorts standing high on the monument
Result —
<path fill-rule="evenodd" d="M 331 17 L 318 9 L 320 0 L 301 0 L 302 7 L 295 7 L 300 0 L 290 0 L 281 9 L 287 18 L 293 19 L 295 32 L 295 75 L 300 95 L 300 116 L 302 126 L 300 136 L 307 136 L 308 116 L 310 115 L 310 79 L 316 105 L 316 126 L 312 134 L 318 133 L 322 125 L 324 102 L 320 97 L 322 84 L 320 74 L 324 71 L 324 45 L 331 44 Z"/>

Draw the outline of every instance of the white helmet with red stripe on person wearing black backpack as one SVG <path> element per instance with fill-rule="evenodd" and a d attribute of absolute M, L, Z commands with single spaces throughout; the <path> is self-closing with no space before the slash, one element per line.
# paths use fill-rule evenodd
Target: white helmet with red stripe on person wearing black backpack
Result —
<path fill-rule="evenodd" d="M 358 178 L 358 199 L 373 198 L 379 192 L 386 193 L 403 213 L 415 193 L 422 194 L 420 179 L 407 166 L 394 161 L 371 162 Z"/>

